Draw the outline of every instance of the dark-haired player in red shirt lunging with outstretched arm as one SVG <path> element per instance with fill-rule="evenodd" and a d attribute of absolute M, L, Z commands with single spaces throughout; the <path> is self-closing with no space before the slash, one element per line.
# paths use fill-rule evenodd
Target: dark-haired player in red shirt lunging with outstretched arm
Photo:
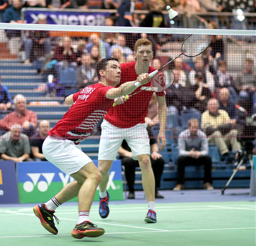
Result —
<path fill-rule="evenodd" d="M 63 118 L 48 132 L 43 144 L 45 158 L 69 174 L 75 181 L 68 183 L 63 189 L 46 203 L 34 206 L 33 211 L 40 219 L 43 227 L 57 234 L 53 218 L 55 209 L 62 203 L 78 196 L 78 223 L 71 232 L 74 238 L 99 237 L 105 231 L 92 224 L 89 211 L 101 174 L 92 160 L 82 152 L 79 143 L 88 137 L 94 126 L 112 108 L 114 102 L 123 103 L 123 95 L 133 92 L 139 84 L 149 82 L 148 73 L 143 73 L 131 81 L 115 88 L 120 83 L 121 70 L 117 59 L 102 59 L 96 67 L 99 83 L 90 85 L 65 99 L 72 104 Z M 121 97 L 121 98 L 118 98 Z M 118 98 L 114 100 L 115 98 Z"/>

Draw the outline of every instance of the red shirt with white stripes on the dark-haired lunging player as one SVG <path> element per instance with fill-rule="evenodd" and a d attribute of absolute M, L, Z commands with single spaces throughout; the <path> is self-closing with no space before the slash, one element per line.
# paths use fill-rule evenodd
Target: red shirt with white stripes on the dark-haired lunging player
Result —
<path fill-rule="evenodd" d="M 97 83 L 73 94 L 73 105 L 48 134 L 72 140 L 76 144 L 83 141 L 113 107 L 114 100 L 106 98 L 111 88 L 114 87 Z"/>

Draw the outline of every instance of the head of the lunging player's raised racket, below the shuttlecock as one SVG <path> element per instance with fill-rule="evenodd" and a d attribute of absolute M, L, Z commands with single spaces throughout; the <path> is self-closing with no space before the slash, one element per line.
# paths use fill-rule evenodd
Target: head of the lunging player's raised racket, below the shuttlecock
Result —
<path fill-rule="evenodd" d="M 187 57 L 198 56 L 208 48 L 211 41 L 212 35 L 188 35 L 181 45 L 181 52 Z"/>

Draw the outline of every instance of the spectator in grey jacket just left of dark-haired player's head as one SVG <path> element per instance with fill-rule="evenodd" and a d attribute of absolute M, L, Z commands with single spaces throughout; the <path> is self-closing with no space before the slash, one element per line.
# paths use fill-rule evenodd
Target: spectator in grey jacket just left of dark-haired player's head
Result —
<path fill-rule="evenodd" d="M 91 66 L 91 56 L 83 54 L 81 57 L 82 65 L 76 70 L 76 87 L 78 90 L 95 84 L 98 81 L 96 70 Z"/>

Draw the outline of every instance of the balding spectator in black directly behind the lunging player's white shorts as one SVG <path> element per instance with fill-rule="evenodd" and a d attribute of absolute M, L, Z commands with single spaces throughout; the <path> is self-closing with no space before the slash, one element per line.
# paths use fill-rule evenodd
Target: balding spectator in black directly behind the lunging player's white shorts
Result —
<path fill-rule="evenodd" d="M 42 146 L 45 138 L 48 136 L 47 132 L 50 131 L 50 122 L 47 120 L 40 121 L 39 132 L 33 135 L 30 139 L 30 146 L 34 161 L 46 161 Z"/>

